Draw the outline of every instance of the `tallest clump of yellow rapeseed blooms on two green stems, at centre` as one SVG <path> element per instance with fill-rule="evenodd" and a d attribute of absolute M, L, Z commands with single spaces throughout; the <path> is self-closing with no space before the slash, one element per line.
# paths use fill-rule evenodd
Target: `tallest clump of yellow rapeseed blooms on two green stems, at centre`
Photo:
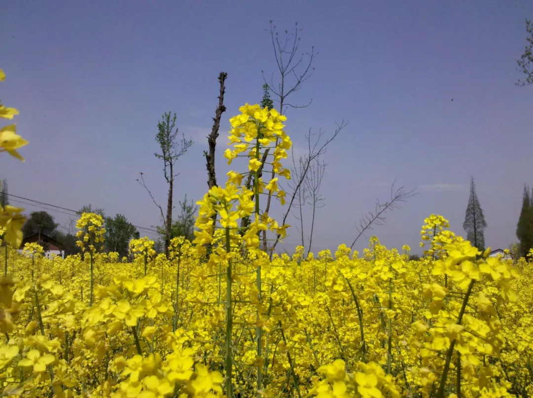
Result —
<path fill-rule="evenodd" d="M 204 196 L 204 199 L 197 204 L 199 207 L 199 216 L 196 221 L 195 231 L 196 244 L 199 254 L 206 254 L 206 246 L 212 248 L 209 253 L 209 260 L 206 264 L 209 273 L 219 275 L 225 268 L 226 282 L 226 330 L 225 330 L 225 394 L 228 397 L 233 395 L 232 385 L 232 258 L 244 252 L 255 266 L 255 290 L 253 297 L 250 297 L 252 303 L 256 305 L 256 356 L 257 356 L 257 390 L 262 387 L 261 374 L 261 356 L 262 356 L 262 280 L 261 265 L 267 261 L 268 255 L 262 251 L 260 246 L 260 232 L 270 229 L 280 234 L 286 235 L 288 225 L 279 226 L 278 223 L 268 216 L 261 213 L 260 194 L 268 191 L 276 196 L 284 204 L 285 192 L 278 188 L 278 177 L 273 177 L 268 184 L 265 184 L 260 175 L 262 165 L 261 158 L 266 150 L 273 149 L 272 161 L 268 163 L 272 166 L 273 175 L 280 175 L 290 178 L 288 169 L 281 166 L 280 160 L 287 157 L 286 150 L 290 149 L 290 139 L 284 131 L 283 121 L 285 116 L 280 115 L 276 110 L 269 110 L 267 107 L 261 108 L 260 105 L 245 104 L 239 108 L 240 115 L 230 119 L 230 145 L 233 149 L 227 149 L 224 157 L 228 159 L 228 165 L 237 157 L 248 158 L 248 172 L 245 174 L 237 173 L 231 170 L 228 175 L 228 182 L 225 187 L 214 186 Z M 271 146 L 273 144 L 273 146 Z M 251 148 L 251 145 L 253 147 Z M 246 153 L 246 155 L 241 155 Z M 254 178 L 253 191 L 246 188 L 243 184 L 245 175 L 252 175 Z M 253 199 L 252 199 L 253 198 Z M 239 231 L 238 220 L 244 217 L 255 215 L 254 221 L 246 226 L 244 231 Z M 213 217 L 217 215 L 217 217 Z M 213 220 L 217 220 L 215 225 Z"/>

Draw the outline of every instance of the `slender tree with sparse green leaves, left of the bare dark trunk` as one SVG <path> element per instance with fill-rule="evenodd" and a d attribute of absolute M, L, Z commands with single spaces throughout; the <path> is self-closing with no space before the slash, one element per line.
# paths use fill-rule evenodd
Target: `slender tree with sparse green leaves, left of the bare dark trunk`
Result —
<path fill-rule="evenodd" d="M 164 224 L 164 241 L 165 241 L 165 255 L 168 256 L 168 246 L 172 237 L 172 210 L 173 210 L 173 197 L 174 197 L 174 179 L 179 175 L 179 173 L 174 172 L 174 165 L 176 161 L 182 157 L 185 152 L 193 144 L 192 139 L 186 139 L 185 134 L 181 135 L 181 138 L 178 136 L 178 128 L 176 127 L 176 113 L 174 115 L 171 112 L 163 113 L 163 117 L 157 123 L 157 134 L 156 141 L 159 144 L 161 153 L 154 153 L 154 156 L 158 159 L 163 160 L 163 175 L 168 184 L 168 194 L 167 194 L 167 206 L 166 214 L 163 212 L 163 207 L 161 207 L 154 198 L 154 195 L 148 189 L 146 183 L 144 182 L 143 173 L 141 178 L 138 178 L 137 181 L 148 191 L 152 201 L 159 208 L 161 213 L 161 221 Z"/>

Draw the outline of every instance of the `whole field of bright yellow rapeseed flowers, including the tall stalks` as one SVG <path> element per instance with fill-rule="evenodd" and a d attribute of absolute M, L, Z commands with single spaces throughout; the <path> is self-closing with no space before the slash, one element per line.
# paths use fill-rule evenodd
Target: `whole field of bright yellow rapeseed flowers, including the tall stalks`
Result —
<path fill-rule="evenodd" d="M 0 117 L 17 113 L 0 105 Z M 419 261 L 375 237 L 361 254 L 260 250 L 262 231 L 288 228 L 261 212 L 266 197 L 285 200 L 285 120 L 248 104 L 230 119 L 224 156 L 247 158 L 248 171 L 205 194 L 196 239 L 174 238 L 168 257 L 147 238 L 132 241 L 133 262 L 100 253 L 103 221 L 90 213 L 77 223 L 83 257 L 48 259 L 35 243 L 19 255 L 22 209 L 0 209 L 0 395 L 533 394 L 531 261 L 488 257 L 436 215 Z M 13 156 L 27 143 L 14 125 L 0 130 Z"/>

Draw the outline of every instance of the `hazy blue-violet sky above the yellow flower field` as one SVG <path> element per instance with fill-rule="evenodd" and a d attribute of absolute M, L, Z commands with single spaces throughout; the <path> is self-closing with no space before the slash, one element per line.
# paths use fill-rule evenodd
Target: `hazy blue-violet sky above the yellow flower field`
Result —
<path fill-rule="evenodd" d="M 0 98 L 19 109 L 14 120 L 30 144 L 20 151 L 26 163 L 0 157 L 0 177 L 21 197 L 71 209 L 90 203 L 136 225 L 158 224 L 158 209 L 135 180 L 143 172 L 165 203 L 154 157 L 162 113 L 176 112 L 180 131 L 196 141 L 177 163 L 174 197 L 196 201 L 207 189 L 202 151 L 219 72 L 229 74 L 221 156 L 228 119 L 261 101 L 261 70 L 276 72 L 269 20 L 281 33 L 298 22 L 301 50 L 314 45 L 319 55 L 293 96 L 312 104 L 289 109 L 287 133 L 302 148 L 309 128 L 332 132 L 336 121 L 349 122 L 324 157 L 326 206 L 313 251 L 350 245 L 361 213 L 387 200 L 393 180 L 419 194 L 373 231 L 384 245 L 419 251 L 431 213 L 463 234 L 471 175 L 486 244 L 505 248 L 516 241 L 523 184 L 533 183 L 533 87 L 514 85 L 526 18 L 533 19 L 526 0 L 4 0 Z M 219 181 L 228 170 L 219 157 Z M 66 214 L 50 213 L 66 224 Z M 290 233 L 289 251 L 298 241 L 296 229 Z M 356 248 L 367 245 L 361 238 Z"/>

